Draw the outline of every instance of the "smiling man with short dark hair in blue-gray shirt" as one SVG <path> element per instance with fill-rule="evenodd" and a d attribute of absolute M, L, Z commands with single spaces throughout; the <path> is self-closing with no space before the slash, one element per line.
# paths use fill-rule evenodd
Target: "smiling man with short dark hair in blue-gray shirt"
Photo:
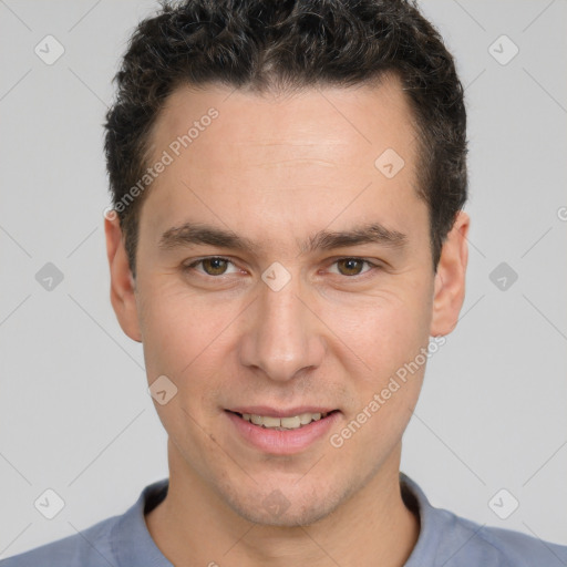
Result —
<path fill-rule="evenodd" d="M 111 300 L 144 347 L 169 478 L 1 565 L 567 565 L 400 473 L 470 225 L 463 90 L 417 10 L 164 4 L 117 86 Z"/>

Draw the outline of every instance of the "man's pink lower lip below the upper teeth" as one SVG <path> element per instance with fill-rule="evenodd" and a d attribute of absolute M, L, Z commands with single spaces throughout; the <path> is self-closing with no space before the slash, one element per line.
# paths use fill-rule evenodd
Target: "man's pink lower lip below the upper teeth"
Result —
<path fill-rule="evenodd" d="M 236 431 L 246 442 L 264 453 L 292 455 L 305 451 L 320 440 L 339 419 L 340 412 L 333 412 L 318 421 L 312 421 L 297 430 L 278 431 L 261 427 L 239 417 L 236 413 L 225 411 Z"/>

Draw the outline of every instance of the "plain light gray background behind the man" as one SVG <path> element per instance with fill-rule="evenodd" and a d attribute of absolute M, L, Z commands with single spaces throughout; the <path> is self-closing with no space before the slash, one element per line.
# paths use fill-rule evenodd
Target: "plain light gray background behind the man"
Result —
<path fill-rule="evenodd" d="M 103 231 L 111 78 L 154 8 L 0 1 L 0 558 L 122 514 L 167 475 Z M 422 8 L 466 85 L 472 229 L 462 320 L 430 361 L 402 470 L 435 506 L 567 544 L 567 3 Z M 48 34 L 65 50 L 51 65 L 34 53 Z M 515 282 L 508 267 L 491 280 L 501 262 Z M 51 520 L 33 505 L 47 488 L 65 502 Z M 507 519 L 488 505 L 502 488 L 519 502 Z"/>

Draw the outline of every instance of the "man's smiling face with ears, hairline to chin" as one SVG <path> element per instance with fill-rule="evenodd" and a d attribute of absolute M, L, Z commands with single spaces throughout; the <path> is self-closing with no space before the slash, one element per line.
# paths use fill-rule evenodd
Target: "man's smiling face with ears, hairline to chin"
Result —
<path fill-rule="evenodd" d="M 118 320 L 148 383 L 166 377 L 172 482 L 297 525 L 396 477 L 423 352 L 454 324 L 466 264 L 450 238 L 434 274 L 411 116 L 394 78 L 168 99 L 150 162 L 171 161 L 141 210 L 135 290 L 117 223 L 106 233 Z"/>

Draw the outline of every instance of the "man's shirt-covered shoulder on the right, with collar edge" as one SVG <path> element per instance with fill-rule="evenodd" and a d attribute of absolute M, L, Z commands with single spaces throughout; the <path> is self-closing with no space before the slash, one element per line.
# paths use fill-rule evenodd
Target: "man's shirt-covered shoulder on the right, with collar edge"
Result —
<path fill-rule="evenodd" d="M 405 504 L 419 513 L 420 536 L 405 567 L 565 567 L 567 546 L 512 529 L 481 525 L 431 505 L 420 486 L 401 474 Z"/>

